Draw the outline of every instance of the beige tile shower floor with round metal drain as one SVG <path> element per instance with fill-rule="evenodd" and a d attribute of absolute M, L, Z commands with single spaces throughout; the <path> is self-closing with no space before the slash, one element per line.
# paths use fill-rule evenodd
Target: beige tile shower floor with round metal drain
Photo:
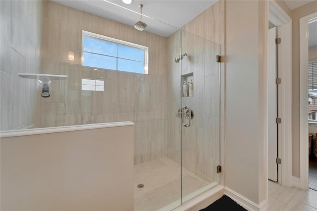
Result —
<path fill-rule="evenodd" d="M 144 187 L 138 188 L 141 183 Z M 183 168 L 183 196 L 209 184 Z M 180 185 L 180 165 L 169 158 L 134 165 L 134 211 L 156 211 L 179 200 Z"/>

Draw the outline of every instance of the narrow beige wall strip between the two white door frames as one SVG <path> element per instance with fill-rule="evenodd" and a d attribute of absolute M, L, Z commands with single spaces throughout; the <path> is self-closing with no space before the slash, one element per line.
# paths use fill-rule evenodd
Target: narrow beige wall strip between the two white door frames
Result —
<path fill-rule="evenodd" d="M 317 1 L 292 11 L 292 175 L 300 177 L 299 19 L 317 12 Z"/>

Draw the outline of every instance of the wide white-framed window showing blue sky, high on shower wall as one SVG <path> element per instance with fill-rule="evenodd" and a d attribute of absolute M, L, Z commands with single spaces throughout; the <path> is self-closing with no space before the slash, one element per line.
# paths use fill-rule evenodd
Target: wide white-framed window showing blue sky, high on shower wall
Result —
<path fill-rule="evenodd" d="M 148 74 L 148 47 L 83 30 L 82 65 Z"/>

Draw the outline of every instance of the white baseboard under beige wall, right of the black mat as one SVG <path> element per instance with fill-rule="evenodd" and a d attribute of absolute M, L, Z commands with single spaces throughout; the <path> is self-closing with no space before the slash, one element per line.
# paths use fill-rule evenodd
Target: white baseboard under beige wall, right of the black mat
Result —
<path fill-rule="evenodd" d="M 233 199 L 236 203 L 238 203 L 248 211 L 263 211 L 266 209 L 265 200 L 260 205 L 257 205 L 256 203 L 226 187 L 224 188 L 224 194 Z"/>

